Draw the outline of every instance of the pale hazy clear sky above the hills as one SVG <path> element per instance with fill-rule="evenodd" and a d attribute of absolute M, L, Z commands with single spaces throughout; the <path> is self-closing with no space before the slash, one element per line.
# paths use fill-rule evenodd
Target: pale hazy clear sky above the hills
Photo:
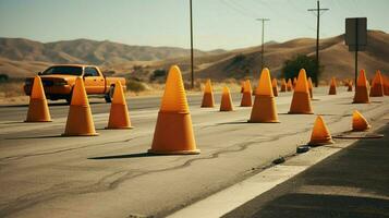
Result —
<path fill-rule="evenodd" d="M 42 43 L 88 38 L 190 48 L 190 0 L 0 0 L 0 37 Z M 389 33 L 389 0 L 321 0 L 320 37 L 344 33 L 345 17 L 367 17 Z M 316 0 L 193 0 L 194 47 L 202 50 L 316 37 Z"/>

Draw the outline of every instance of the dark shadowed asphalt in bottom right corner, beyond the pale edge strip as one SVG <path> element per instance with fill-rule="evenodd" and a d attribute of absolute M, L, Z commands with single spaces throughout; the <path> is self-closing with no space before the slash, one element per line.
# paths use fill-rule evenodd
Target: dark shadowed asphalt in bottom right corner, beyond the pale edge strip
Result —
<path fill-rule="evenodd" d="M 358 141 L 223 217 L 389 217 L 389 125 L 379 133 L 382 138 Z"/>

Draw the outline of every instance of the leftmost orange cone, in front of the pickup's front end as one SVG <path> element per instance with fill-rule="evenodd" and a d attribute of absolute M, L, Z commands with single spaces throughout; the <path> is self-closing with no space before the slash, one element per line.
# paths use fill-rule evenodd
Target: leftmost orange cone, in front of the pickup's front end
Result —
<path fill-rule="evenodd" d="M 49 107 L 39 76 L 34 77 L 25 122 L 51 122 Z"/>

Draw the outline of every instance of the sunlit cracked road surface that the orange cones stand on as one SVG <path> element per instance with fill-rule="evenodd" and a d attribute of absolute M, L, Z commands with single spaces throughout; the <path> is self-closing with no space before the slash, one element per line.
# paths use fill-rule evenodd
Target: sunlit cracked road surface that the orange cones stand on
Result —
<path fill-rule="evenodd" d="M 314 90 L 315 114 L 332 133 L 350 130 L 360 110 L 373 124 L 389 98 L 351 104 L 339 87 Z M 288 114 L 291 93 L 277 97 L 280 123 L 247 123 L 251 108 L 219 112 L 189 96 L 197 148 L 194 156 L 149 156 L 160 98 L 130 98 L 132 130 L 105 130 L 109 105 L 93 100 L 99 136 L 62 137 L 69 106 L 51 104 L 53 122 L 24 123 L 26 106 L 0 107 L 0 217 L 165 216 L 252 175 L 309 140 L 315 114 Z M 216 102 L 220 101 L 217 95 Z"/>

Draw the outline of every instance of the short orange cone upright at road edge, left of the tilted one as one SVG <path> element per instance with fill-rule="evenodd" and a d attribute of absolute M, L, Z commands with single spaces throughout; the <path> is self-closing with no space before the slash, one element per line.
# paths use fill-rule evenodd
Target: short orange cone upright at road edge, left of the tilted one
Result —
<path fill-rule="evenodd" d="M 314 129 L 312 130 L 311 134 L 311 141 L 308 145 L 311 146 L 319 146 L 319 145 L 327 145 L 327 144 L 332 144 L 332 137 L 331 134 L 328 131 L 328 128 L 326 123 L 324 122 L 324 119 L 321 116 L 317 116 L 315 123 L 314 123 Z"/>

